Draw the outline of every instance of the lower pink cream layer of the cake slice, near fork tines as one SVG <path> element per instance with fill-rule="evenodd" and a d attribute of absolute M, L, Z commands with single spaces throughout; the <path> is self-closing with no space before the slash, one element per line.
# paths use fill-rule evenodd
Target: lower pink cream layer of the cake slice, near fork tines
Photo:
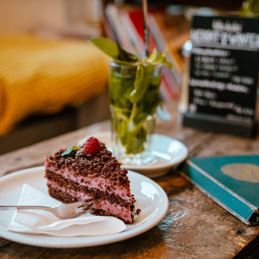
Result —
<path fill-rule="evenodd" d="M 91 196 L 88 196 L 82 192 L 77 192 L 74 190 L 70 190 L 67 189 L 65 187 L 60 187 L 59 185 L 55 184 L 53 181 L 51 180 L 47 180 L 47 184 L 50 184 L 52 187 L 57 188 L 59 190 L 61 190 L 62 192 L 67 192 L 70 195 L 77 197 L 80 200 L 86 200 L 88 198 L 91 198 Z M 106 200 L 101 200 L 100 202 L 95 202 L 93 204 L 93 206 L 97 209 L 102 209 L 108 212 L 111 212 L 112 214 L 118 215 L 119 217 L 126 219 L 130 222 L 132 222 L 132 218 L 131 218 L 131 211 L 129 206 L 128 207 L 122 207 L 118 204 L 111 204 L 110 202 L 106 201 Z"/>

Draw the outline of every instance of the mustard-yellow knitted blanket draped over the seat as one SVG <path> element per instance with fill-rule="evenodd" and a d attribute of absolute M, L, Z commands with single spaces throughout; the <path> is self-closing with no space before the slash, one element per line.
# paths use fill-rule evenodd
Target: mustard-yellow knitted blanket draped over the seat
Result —
<path fill-rule="evenodd" d="M 56 113 L 103 92 L 108 60 L 86 41 L 0 37 L 0 135 L 30 114 Z"/>

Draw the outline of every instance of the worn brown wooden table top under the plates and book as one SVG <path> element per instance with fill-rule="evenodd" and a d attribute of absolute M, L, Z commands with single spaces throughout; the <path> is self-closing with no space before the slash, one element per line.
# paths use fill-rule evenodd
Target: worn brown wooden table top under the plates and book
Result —
<path fill-rule="evenodd" d="M 183 142 L 190 156 L 259 153 L 259 136 L 245 139 L 183 128 L 176 105 L 172 118 L 157 121 L 156 132 Z M 0 176 L 43 165 L 44 157 L 96 132 L 110 129 L 109 121 L 93 124 L 0 156 Z M 169 198 L 164 219 L 149 231 L 117 243 L 86 248 L 33 247 L 0 238 L 0 258 L 257 258 L 259 226 L 247 226 L 193 187 L 176 171 L 155 179 Z"/>

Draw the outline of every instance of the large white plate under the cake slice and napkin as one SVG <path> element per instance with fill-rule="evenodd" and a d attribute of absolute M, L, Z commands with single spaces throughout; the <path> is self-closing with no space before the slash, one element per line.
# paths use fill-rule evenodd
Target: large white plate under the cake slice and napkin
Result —
<path fill-rule="evenodd" d="M 44 170 L 43 166 L 34 167 L 1 177 L 0 205 L 16 205 L 24 183 L 48 193 Z M 10 232 L 6 230 L 6 227 L 9 225 L 14 211 L 0 211 L 0 236 L 32 246 L 69 248 L 108 244 L 139 235 L 154 227 L 166 215 L 168 198 L 164 190 L 148 177 L 129 171 L 128 178 L 131 182 L 131 193 L 136 199 L 135 209 L 140 208 L 141 213 L 134 215 L 133 212 L 134 223 L 127 225 L 127 229 L 121 233 L 71 238 Z"/>

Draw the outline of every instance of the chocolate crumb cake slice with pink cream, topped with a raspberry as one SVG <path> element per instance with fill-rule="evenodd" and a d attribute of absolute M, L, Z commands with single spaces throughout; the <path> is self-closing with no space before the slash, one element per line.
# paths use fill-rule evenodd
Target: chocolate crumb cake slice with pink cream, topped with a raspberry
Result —
<path fill-rule="evenodd" d="M 134 198 L 127 170 L 104 143 L 89 138 L 83 147 L 71 146 L 45 159 L 49 195 L 63 203 L 94 198 L 91 213 L 133 223 Z"/>

